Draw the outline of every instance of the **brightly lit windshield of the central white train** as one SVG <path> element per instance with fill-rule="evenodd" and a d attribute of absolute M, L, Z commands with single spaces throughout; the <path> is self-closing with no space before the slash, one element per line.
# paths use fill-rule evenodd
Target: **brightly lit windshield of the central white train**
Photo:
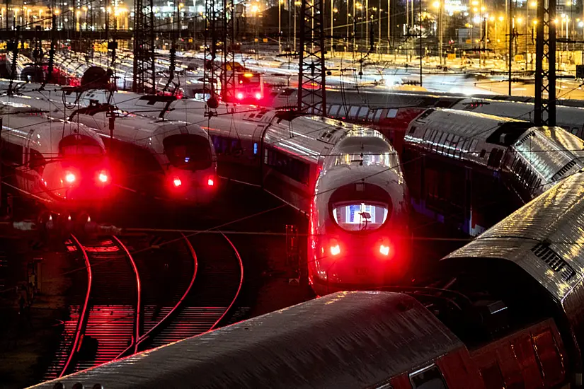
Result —
<path fill-rule="evenodd" d="M 345 231 L 372 231 L 385 223 L 388 208 L 387 204 L 340 203 L 333 205 L 333 216 Z"/>

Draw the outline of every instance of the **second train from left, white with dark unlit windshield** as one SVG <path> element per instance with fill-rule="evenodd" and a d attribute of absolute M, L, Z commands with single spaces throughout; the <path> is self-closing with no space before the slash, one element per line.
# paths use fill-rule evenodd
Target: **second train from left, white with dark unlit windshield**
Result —
<path fill-rule="evenodd" d="M 116 173 L 115 185 L 146 200 L 201 206 L 217 194 L 217 156 L 209 134 L 196 124 L 98 105 L 84 109 L 71 104 L 66 110 L 55 91 L 3 95 L 0 102 L 33 105 L 97 131 Z"/>

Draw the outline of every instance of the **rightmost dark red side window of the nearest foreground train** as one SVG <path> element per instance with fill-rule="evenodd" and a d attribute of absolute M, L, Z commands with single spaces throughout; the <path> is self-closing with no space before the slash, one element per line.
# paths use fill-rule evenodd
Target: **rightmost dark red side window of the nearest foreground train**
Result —
<path fill-rule="evenodd" d="M 563 382 L 566 371 L 564 371 L 556 340 L 551 335 L 551 331 L 546 330 L 535 335 L 533 344 L 546 385 L 550 387 L 559 385 Z"/>

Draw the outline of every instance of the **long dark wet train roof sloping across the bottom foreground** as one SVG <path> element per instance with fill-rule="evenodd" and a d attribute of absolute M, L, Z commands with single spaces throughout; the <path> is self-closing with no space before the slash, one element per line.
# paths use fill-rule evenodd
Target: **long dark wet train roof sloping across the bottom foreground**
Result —
<path fill-rule="evenodd" d="M 369 388 L 463 347 L 410 296 L 339 292 L 57 381 L 67 388 Z"/>

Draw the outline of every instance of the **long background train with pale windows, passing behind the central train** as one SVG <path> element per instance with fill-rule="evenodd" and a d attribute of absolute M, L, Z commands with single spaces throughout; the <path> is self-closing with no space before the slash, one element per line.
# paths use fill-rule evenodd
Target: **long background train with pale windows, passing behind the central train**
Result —
<path fill-rule="evenodd" d="M 265 99 L 270 107 L 287 107 L 297 102 L 297 91 L 284 88 Z M 379 129 L 401 152 L 403 135 L 410 122 L 428 108 L 451 108 L 532 122 L 533 98 L 500 95 L 465 96 L 450 93 L 331 89 L 326 94 L 327 116 Z M 584 139 L 584 106 L 575 100 L 559 100 L 556 126 Z"/>

